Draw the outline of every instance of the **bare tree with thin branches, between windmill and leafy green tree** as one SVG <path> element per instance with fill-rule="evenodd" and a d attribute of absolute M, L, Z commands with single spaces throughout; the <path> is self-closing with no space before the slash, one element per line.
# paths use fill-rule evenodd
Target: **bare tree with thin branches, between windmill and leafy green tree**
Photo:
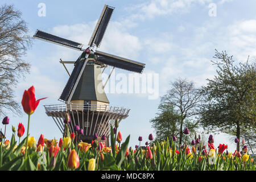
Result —
<path fill-rule="evenodd" d="M 178 78 L 175 82 L 171 83 L 171 89 L 168 90 L 167 94 L 161 98 L 161 101 L 165 104 L 175 106 L 175 110 L 179 111 L 180 114 L 180 129 L 179 129 L 179 144 L 181 145 L 184 120 L 189 118 L 191 121 L 194 120 L 193 125 L 189 127 L 192 129 L 199 124 L 199 119 L 195 116 L 198 114 L 201 102 L 200 89 L 195 87 L 194 82 L 189 82 L 186 79 Z"/>

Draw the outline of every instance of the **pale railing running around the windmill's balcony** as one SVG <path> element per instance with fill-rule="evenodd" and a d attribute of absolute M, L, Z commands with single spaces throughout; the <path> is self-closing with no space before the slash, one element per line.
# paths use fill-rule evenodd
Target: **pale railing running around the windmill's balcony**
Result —
<path fill-rule="evenodd" d="M 53 104 L 44 105 L 46 113 L 58 111 L 102 111 L 108 113 L 116 113 L 127 115 L 130 109 L 110 105 L 91 105 L 91 104 Z"/>

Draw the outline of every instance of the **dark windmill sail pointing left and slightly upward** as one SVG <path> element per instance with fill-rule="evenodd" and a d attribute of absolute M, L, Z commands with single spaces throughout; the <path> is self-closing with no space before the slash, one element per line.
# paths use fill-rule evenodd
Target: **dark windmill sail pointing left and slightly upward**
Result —
<path fill-rule="evenodd" d="M 36 31 L 34 38 L 45 40 L 45 41 L 51 42 L 53 44 L 59 44 L 61 46 L 65 46 L 65 47 L 69 47 L 69 48 L 73 48 L 73 49 L 81 50 L 81 48 L 82 48 L 82 44 L 80 44 L 80 43 L 73 42 L 72 40 L 68 40 L 68 39 L 63 39 L 63 38 L 60 38 L 59 36 L 48 34 L 46 32 L 40 31 L 40 30 Z"/>

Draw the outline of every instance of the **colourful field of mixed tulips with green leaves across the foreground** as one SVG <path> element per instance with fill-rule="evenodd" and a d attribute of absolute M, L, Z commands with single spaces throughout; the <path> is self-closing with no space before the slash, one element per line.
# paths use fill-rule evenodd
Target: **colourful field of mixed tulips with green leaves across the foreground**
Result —
<path fill-rule="evenodd" d="M 163 142 L 148 136 L 150 143 L 141 147 L 129 147 L 130 135 L 123 140 L 118 131 L 118 124 L 110 130 L 110 147 L 106 147 L 105 136 L 98 138 L 94 134 L 91 143 L 77 142 L 82 130 L 77 126 L 76 133 L 70 133 L 68 123 L 70 117 L 65 115 L 67 133 L 60 139 L 46 139 L 41 134 L 39 140 L 29 136 L 30 115 L 34 113 L 40 100 L 35 100 L 35 90 L 25 90 L 22 106 L 28 114 L 27 136 L 19 123 L 18 129 L 13 126 L 10 139 L 2 138 L 0 144 L 0 170 L 6 171 L 254 171 L 255 160 L 248 154 L 243 140 L 242 151 L 228 152 L 228 146 L 214 146 L 213 135 L 209 136 L 208 145 L 203 146 L 200 135 L 189 144 L 179 146 L 173 136 Z M 3 118 L 3 125 L 10 122 Z M 117 132 L 118 131 L 118 132 Z M 189 129 L 184 130 L 188 134 Z M 22 138 L 20 140 L 20 138 Z M 235 140 L 235 142 L 240 142 Z"/>

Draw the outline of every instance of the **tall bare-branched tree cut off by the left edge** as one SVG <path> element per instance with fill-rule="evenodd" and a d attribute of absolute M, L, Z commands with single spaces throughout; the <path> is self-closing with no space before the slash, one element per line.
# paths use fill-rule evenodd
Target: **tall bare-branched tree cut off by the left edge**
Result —
<path fill-rule="evenodd" d="M 20 114 L 13 87 L 30 70 L 30 64 L 22 56 L 26 55 L 32 42 L 21 15 L 13 5 L 0 7 L 0 115 L 7 110 Z"/>

